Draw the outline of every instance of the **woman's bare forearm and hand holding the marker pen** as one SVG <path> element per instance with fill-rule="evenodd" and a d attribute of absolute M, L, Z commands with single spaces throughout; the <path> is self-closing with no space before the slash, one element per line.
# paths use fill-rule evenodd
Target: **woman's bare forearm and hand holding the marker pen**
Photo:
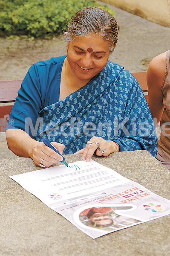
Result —
<path fill-rule="evenodd" d="M 25 131 L 20 129 L 8 129 L 6 130 L 6 140 L 9 149 L 20 157 L 31 157 L 36 165 L 41 163 L 43 159 L 43 165 L 46 167 L 51 166 L 53 163 L 62 161 L 63 158 L 47 147 L 43 142 L 38 142 L 32 139 Z M 53 145 L 62 154 L 64 145 L 56 142 L 52 142 Z"/>

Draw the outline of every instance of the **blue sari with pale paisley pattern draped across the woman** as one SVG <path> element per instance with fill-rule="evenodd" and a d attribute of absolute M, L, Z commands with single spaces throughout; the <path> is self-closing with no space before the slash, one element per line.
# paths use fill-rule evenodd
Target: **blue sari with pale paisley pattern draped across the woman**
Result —
<path fill-rule="evenodd" d="M 145 149 L 156 156 L 156 131 L 141 87 L 111 61 L 84 87 L 46 106 L 39 116 L 43 124 L 35 139 L 63 143 L 64 154 L 75 153 L 97 136 L 114 140 L 120 151 Z"/>

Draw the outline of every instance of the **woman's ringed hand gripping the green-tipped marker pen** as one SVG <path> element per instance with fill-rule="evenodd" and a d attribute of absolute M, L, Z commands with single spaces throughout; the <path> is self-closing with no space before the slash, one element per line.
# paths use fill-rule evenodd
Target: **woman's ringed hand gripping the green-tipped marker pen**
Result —
<path fill-rule="evenodd" d="M 60 154 L 63 153 L 63 144 L 55 142 L 52 142 L 52 144 L 58 149 Z M 34 163 L 38 166 L 49 167 L 54 163 L 62 161 L 63 157 L 56 153 L 54 150 L 52 150 L 52 148 L 49 148 L 43 142 L 41 142 L 34 148 L 32 159 Z"/>

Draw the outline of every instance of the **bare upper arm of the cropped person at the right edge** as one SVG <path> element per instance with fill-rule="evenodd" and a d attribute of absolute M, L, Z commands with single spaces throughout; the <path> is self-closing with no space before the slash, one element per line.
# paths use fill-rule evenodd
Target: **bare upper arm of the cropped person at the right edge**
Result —
<path fill-rule="evenodd" d="M 156 56 L 147 69 L 148 105 L 153 116 L 155 126 L 158 125 L 164 110 L 161 87 L 164 81 L 166 52 Z"/>

